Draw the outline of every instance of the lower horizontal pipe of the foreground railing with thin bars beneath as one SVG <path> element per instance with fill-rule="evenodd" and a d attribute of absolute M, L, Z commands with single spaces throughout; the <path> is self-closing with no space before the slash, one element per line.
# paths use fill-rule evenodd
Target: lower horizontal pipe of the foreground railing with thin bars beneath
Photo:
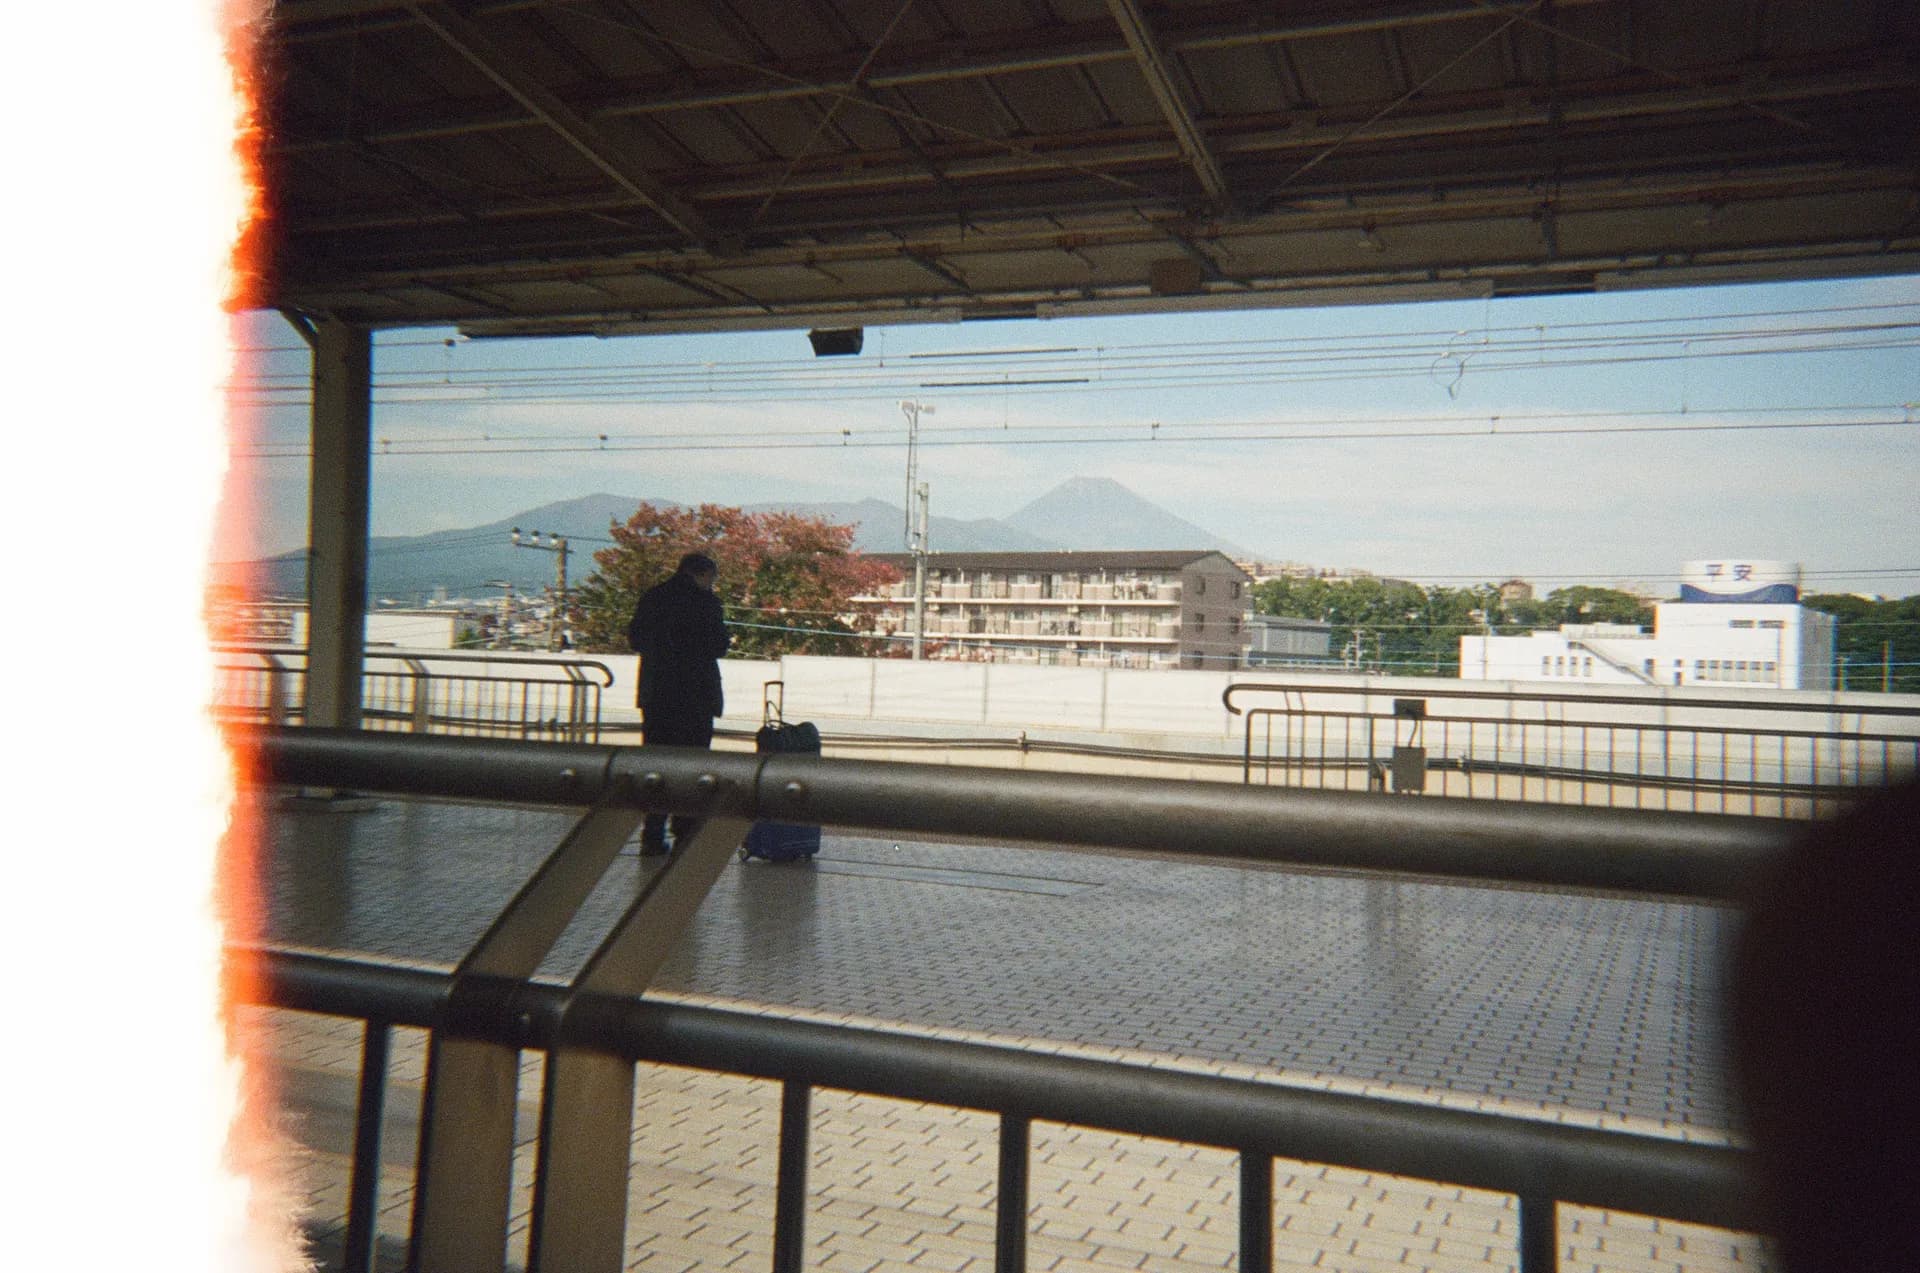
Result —
<path fill-rule="evenodd" d="M 449 973 L 271 949 L 236 949 L 230 966 L 246 1002 L 428 1029 L 447 1020 Z M 1724 1229 L 1761 1221 L 1747 1156 L 1730 1146 L 632 997 L 582 1000 L 549 983 L 530 983 L 488 1012 L 463 1010 L 459 1025 L 518 1048 L 588 1041 L 634 1062 L 783 1081 L 776 1217 L 789 1219 L 776 1221 L 776 1250 L 799 1244 L 793 1190 L 804 1190 L 806 1148 L 789 1139 L 806 1135 L 797 1093 L 810 1087 L 998 1112 L 998 1267 L 1021 1267 L 1033 1119 L 1240 1152 L 1252 1162 L 1242 1181 L 1267 1190 L 1265 1206 L 1240 1204 L 1242 1252 L 1261 1242 L 1258 1213 L 1271 1210 L 1277 1156 L 1515 1194 L 1523 1273 L 1551 1267 L 1551 1240 L 1528 1242 L 1526 1233 L 1549 1235 L 1561 1202 Z"/>

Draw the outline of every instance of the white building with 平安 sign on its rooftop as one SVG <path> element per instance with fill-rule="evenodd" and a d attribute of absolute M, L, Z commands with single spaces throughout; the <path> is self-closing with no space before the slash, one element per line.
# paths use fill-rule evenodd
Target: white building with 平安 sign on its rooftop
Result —
<path fill-rule="evenodd" d="M 1680 601 L 1653 607 L 1653 630 L 1563 624 L 1526 636 L 1459 639 L 1463 680 L 1576 685 L 1834 687 L 1834 616 L 1799 603 L 1799 566 L 1690 561 Z"/>

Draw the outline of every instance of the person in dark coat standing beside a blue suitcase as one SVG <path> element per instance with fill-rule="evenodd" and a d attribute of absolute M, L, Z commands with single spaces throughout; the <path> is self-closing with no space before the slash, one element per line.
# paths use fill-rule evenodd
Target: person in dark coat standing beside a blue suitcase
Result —
<path fill-rule="evenodd" d="M 639 597 L 626 639 L 639 655 L 641 741 L 660 747 L 710 747 L 714 716 L 726 709 L 720 693 L 720 657 L 732 641 L 714 580 L 720 566 L 705 553 L 687 553 L 664 584 Z M 639 853 L 668 851 L 668 820 L 647 814 Z M 699 829 L 697 818 L 674 814 L 674 843 Z"/>

